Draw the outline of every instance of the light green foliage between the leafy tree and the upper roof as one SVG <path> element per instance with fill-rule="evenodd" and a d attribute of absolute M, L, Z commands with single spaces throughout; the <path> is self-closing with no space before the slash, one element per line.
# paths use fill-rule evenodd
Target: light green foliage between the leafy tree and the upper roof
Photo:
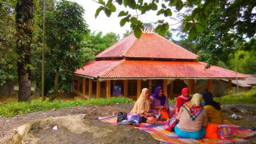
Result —
<path fill-rule="evenodd" d="M 99 31 L 98 33 L 94 31 L 93 33 L 86 35 L 83 42 L 95 52 L 94 54 L 98 54 L 114 45 L 114 43 L 117 43 L 119 39 L 119 34 L 113 32 L 103 35 L 102 31 Z"/>

